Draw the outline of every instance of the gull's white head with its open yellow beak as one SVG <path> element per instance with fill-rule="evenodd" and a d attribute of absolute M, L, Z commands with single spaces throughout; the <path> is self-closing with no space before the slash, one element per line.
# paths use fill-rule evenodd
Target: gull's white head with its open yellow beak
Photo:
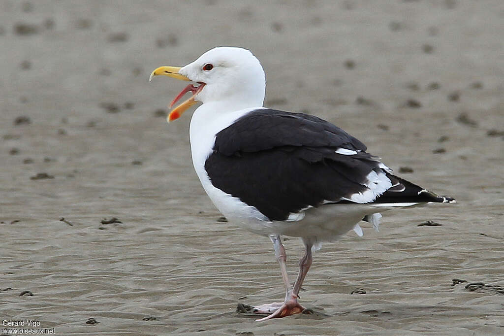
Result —
<path fill-rule="evenodd" d="M 200 84 L 188 85 L 173 100 L 172 105 L 186 92 L 193 92 L 190 99 L 172 110 L 170 116 L 173 118 L 169 116 L 169 121 L 178 118 L 195 101 L 223 101 L 235 103 L 240 108 L 262 106 L 266 92 L 266 79 L 261 63 L 249 50 L 238 47 L 210 49 L 185 67 L 160 67 L 154 70 L 151 79 L 156 75 L 167 75 Z"/>

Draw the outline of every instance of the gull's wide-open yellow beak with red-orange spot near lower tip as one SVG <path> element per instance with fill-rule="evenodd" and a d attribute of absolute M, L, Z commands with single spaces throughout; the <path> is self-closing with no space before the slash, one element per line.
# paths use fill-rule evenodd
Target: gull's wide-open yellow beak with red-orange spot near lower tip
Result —
<path fill-rule="evenodd" d="M 151 76 L 149 77 L 149 82 L 152 80 L 152 78 L 154 76 L 158 76 L 158 75 L 164 75 L 164 76 L 168 76 L 168 77 L 172 77 L 172 78 L 176 78 L 176 79 L 180 79 L 180 80 L 183 80 L 183 81 L 191 81 L 190 79 L 188 79 L 187 77 L 185 77 L 184 75 L 180 75 L 178 73 L 178 71 L 180 70 L 181 68 L 179 67 L 159 67 L 157 68 L 156 70 L 154 70 L 152 73 L 151 73 Z M 178 119 L 180 118 L 180 116 L 182 115 L 182 113 L 184 113 L 184 111 L 193 106 L 194 104 L 196 104 L 196 100 L 195 100 L 195 96 L 200 93 L 200 91 L 203 89 L 203 87 L 205 86 L 205 83 L 199 83 L 200 85 L 199 86 L 194 86 L 193 84 L 189 84 L 187 85 L 182 91 L 180 91 L 180 93 L 171 101 L 170 103 L 170 108 L 180 99 L 182 98 L 182 96 L 191 91 L 193 93 L 193 95 L 191 96 L 191 98 L 185 100 L 183 103 L 181 103 L 180 105 L 178 105 L 177 107 L 175 107 L 174 109 L 172 109 L 170 111 L 170 113 L 168 114 L 168 123 L 171 122 L 172 120 L 175 120 L 175 119 Z"/>

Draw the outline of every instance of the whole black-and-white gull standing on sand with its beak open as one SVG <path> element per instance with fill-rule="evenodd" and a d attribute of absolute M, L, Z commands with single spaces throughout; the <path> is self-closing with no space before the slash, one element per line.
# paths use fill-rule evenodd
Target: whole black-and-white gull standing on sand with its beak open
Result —
<path fill-rule="evenodd" d="M 350 230 L 362 236 L 361 220 L 378 228 L 380 212 L 430 202 L 455 203 L 392 174 L 380 158 L 342 129 L 318 117 L 263 107 L 263 67 L 249 51 L 217 47 L 182 68 L 159 67 L 157 75 L 192 81 L 191 98 L 168 122 L 200 101 L 190 126 L 193 164 L 203 188 L 230 222 L 268 236 L 285 285 L 281 303 L 256 306 L 260 319 L 303 311 L 299 290 L 312 251 Z M 281 236 L 300 237 L 306 252 L 291 286 Z"/>

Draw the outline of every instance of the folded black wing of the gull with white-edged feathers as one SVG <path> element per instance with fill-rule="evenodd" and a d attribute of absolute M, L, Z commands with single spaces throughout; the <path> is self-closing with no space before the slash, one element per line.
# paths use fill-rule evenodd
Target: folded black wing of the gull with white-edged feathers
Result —
<path fill-rule="evenodd" d="M 290 213 L 326 203 L 355 202 L 355 197 L 372 202 L 371 189 L 389 173 L 365 150 L 362 142 L 320 118 L 260 109 L 217 133 L 205 169 L 216 188 L 270 220 L 286 220 Z M 373 184 L 372 172 L 382 180 Z M 386 180 L 397 202 L 404 185 L 392 175 Z"/>

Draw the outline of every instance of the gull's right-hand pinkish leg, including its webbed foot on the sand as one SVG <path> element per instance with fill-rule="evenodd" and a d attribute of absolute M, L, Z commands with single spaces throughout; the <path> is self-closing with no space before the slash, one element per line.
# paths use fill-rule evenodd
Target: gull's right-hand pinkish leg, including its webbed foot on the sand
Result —
<path fill-rule="evenodd" d="M 284 303 L 271 315 L 261 318 L 256 321 L 264 321 L 270 318 L 279 318 L 290 316 L 294 314 L 299 314 L 304 310 L 304 307 L 297 302 L 299 297 L 299 290 L 303 283 L 306 273 L 311 266 L 312 256 L 311 256 L 311 244 L 305 244 L 306 253 L 299 260 L 299 274 L 297 275 L 296 282 L 292 289 L 286 287 L 285 301 Z"/>

